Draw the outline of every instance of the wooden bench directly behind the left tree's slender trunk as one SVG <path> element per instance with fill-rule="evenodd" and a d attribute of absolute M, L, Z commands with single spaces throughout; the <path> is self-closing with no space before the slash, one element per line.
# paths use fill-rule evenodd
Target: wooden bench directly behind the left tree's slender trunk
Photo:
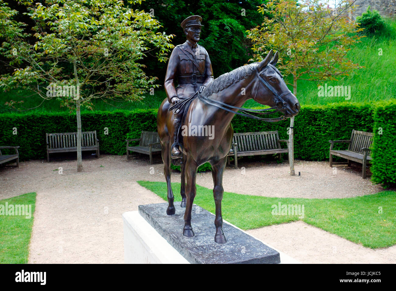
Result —
<path fill-rule="evenodd" d="M 77 151 L 77 133 L 46 133 L 47 141 L 47 162 L 49 162 L 49 154 L 55 152 L 76 152 Z M 81 150 L 95 150 L 96 156 L 99 158 L 99 139 L 96 137 L 95 131 L 84 131 L 81 133 Z"/>

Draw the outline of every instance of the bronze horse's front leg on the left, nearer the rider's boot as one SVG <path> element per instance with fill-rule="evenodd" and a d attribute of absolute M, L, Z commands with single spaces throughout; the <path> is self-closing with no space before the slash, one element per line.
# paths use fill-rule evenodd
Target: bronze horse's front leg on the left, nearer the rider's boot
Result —
<path fill-rule="evenodd" d="M 185 164 L 185 172 L 186 172 L 186 194 L 187 194 L 187 203 L 186 203 L 186 211 L 184 213 L 184 228 L 183 228 L 183 236 L 192 237 L 194 236 L 194 232 L 192 231 L 191 226 L 191 210 L 192 204 L 194 203 L 194 198 L 197 192 L 197 188 L 195 185 L 196 175 L 197 175 L 198 165 L 192 158 L 187 158 Z"/>

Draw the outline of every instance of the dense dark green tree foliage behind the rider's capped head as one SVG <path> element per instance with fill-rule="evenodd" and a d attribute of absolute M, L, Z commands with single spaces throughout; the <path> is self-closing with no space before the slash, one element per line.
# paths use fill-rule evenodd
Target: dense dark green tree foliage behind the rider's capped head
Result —
<path fill-rule="evenodd" d="M 255 16 L 256 6 L 261 3 L 261 0 L 150 0 L 142 3 L 142 8 L 150 11 L 167 33 L 175 34 L 175 45 L 186 41 L 181 21 L 190 15 L 200 15 L 204 27 L 199 44 L 208 51 L 217 77 L 251 58 L 246 30 L 261 23 Z M 154 61 L 148 57 L 145 64 L 150 68 Z M 162 65 L 160 70 L 165 76 L 166 64 Z"/>

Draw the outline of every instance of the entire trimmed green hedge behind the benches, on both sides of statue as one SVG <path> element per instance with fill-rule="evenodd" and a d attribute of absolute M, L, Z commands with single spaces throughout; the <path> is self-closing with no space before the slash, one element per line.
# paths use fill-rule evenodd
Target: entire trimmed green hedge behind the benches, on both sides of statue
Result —
<path fill-rule="evenodd" d="M 396 183 L 395 103 L 334 103 L 325 106 L 304 106 L 295 118 L 295 158 L 328 160 L 329 140 L 349 139 L 352 129 L 373 132 L 383 127 L 383 135 L 375 135 L 373 148 L 373 181 Z M 376 105 L 377 106 L 377 105 Z M 376 109 L 378 108 L 378 110 Z M 125 154 L 125 139 L 140 137 L 142 130 L 156 131 L 155 109 L 118 110 L 114 112 L 82 112 L 82 131 L 96 130 L 100 150 L 107 154 Z M 76 131 L 76 116 L 67 112 L 0 114 L 0 145 L 19 145 L 20 159 L 46 157 L 46 133 Z M 269 123 L 235 116 L 235 132 L 278 130 L 280 139 L 287 139 L 289 120 Z M 13 135 L 13 128 L 17 135 Z M 105 135 L 105 127 L 109 134 Z M 346 149 L 345 144 L 335 149 Z"/>

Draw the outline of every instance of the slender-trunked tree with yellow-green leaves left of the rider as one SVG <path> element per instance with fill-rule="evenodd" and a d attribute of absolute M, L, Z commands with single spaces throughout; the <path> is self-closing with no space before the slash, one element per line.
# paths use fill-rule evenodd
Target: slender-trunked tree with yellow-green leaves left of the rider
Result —
<path fill-rule="evenodd" d="M 18 12 L 0 0 L 0 38 L 6 39 L 0 51 L 14 68 L 2 75 L 0 87 L 28 89 L 43 102 L 56 98 L 76 110 L 77 171 L 82 171 L 80 107 L 92 109 L 97 98 L 141 100 L 150 87 L 159 87 L 156 77 L 146 76 L 141 60 L 155 51 L 157 60 L 166 62 L 173 35 L 156 32 L 161 25 L 150 13 L 125 8 L 120 0 L 23 4 L 35 23 L 34 34 L 25 32 L 26 24 L 13 19 Z"/>

